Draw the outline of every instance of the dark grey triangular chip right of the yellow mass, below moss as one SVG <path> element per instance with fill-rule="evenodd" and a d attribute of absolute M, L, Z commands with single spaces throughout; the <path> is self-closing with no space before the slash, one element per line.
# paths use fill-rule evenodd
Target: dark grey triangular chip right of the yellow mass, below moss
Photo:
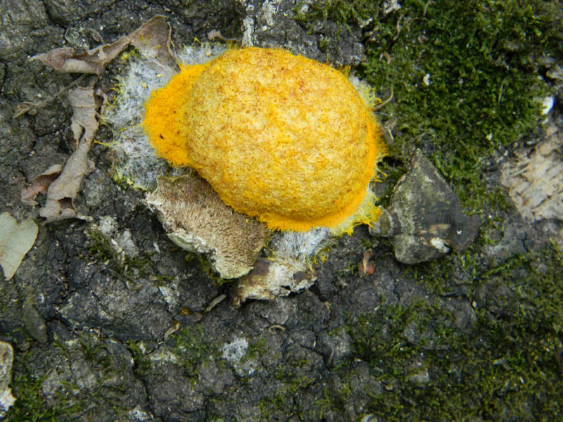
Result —
<path fill-rule="evenodd" d="M 382 210 L 369 233 L 391 237 L 397 260 L 417 264 L 442 257 L 450 248 L 466 250 L 479 225 L 477 215 L 463 214 L 452 188 L 417 151 L 410 170 L 395 186 L 390 207 Z"/>

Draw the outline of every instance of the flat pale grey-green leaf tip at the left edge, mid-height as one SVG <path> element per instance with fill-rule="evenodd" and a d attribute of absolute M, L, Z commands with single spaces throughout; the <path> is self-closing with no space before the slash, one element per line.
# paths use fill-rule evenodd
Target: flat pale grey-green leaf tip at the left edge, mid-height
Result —
<path fill-rule="evenodd" d="M 24 219 L 20 224 L 9 212 L 0 214 L 0 265 L 9 280 L 37 238 L 37 224 Z"/>

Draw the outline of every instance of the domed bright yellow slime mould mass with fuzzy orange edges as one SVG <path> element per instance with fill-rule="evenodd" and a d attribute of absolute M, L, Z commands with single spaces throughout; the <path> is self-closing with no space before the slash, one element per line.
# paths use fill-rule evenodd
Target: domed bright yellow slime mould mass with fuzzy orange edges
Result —
<path fill-rule="evenodd" d="M 365 200 L 384 151 L 379 124 L 328 65 L 236 49 L 182 67 L 145 108 L 160 156 L 194 167 L 224 203 L 271 229 L 350 231 L 379 216 Z"/>

